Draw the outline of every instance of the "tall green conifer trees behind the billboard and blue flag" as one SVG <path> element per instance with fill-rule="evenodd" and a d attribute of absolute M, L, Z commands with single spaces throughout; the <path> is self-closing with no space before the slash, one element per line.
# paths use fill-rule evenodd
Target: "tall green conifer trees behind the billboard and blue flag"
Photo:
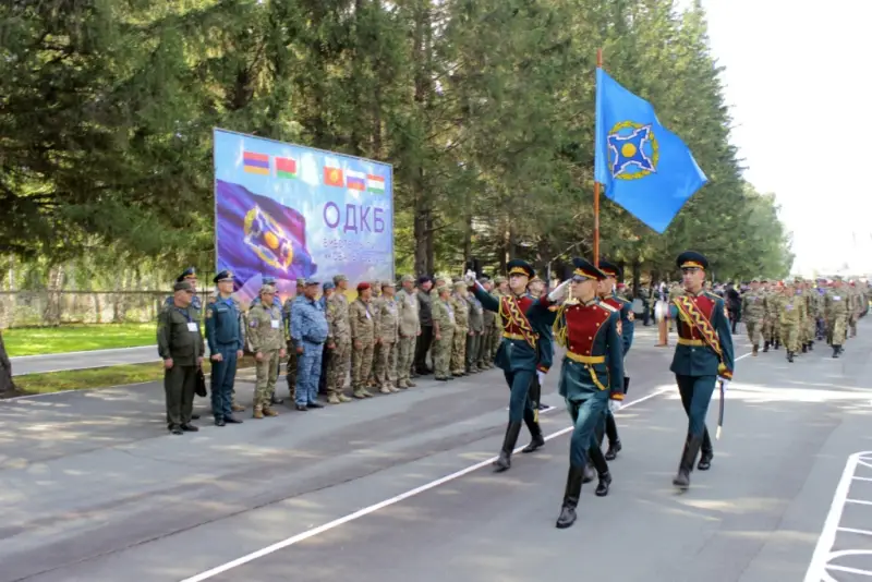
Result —
<path fill-rule="evenodd" d="M 791 266 L 773 196 L 741 178 L 699 2 L 5 2 L 0 23 L 0 247 L 44 269 L 96 277 L 97 248 L 207 269 L 215 126 L 391 162 L 400 271 L 590 254 L 601 47 L 711 180 L 662 237 L 603 199 L 603 254 Z"/>

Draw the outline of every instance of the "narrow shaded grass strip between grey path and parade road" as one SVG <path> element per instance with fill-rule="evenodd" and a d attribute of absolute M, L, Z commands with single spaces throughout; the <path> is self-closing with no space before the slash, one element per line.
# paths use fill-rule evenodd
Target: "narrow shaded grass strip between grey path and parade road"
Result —
<path fill-rule="evenodd" d="M 254 366 L 254 357 L 246 355 L 239 362 L 240 368 Z M 203 362 L 203 372 L 211 371 L 209 362 Z M 36 395 L 45 392 L 60 392 L 64 390 L 82 390 L 85 388 L 107 388 L 143 381 L 164 379 L 164 364 L 150 362 L 148 364 L 125 364 L 121 366 L 97 367 L 93 369 L 72 369 L 69 372 L 51 372 L 48 374 L 26 374 L 15 376 L 16 393 L 3 395 L 7 397 L 21 395 Z"/>

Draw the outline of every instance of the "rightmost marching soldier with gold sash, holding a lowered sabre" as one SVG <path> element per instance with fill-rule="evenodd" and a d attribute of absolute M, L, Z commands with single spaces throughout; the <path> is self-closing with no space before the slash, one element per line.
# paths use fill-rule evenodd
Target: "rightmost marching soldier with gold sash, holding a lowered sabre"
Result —
<path fill-rule="evenodd" d="M 670 369 L 688 414 L 688 434 L 673 485 L 687 489 L 700 448 L 702 456 L 697 469 L 711 468 L 714 449 L 705 427 L 705 415 L 715 384 L 732 379 L 735 361 L 724 300 L 703 290 L 708 260 L 700 253 L 687 251 L 678 255 L 677 264 L 682 272 L 685 293 L 675 298 L 669 308 L 678 326 L 678 345 Z"/>

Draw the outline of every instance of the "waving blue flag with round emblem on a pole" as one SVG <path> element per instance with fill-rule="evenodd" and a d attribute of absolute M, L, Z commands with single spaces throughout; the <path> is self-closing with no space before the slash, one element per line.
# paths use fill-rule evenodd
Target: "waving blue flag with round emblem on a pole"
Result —
<path fill-rule="evenodd" d="M 607 198 L 659 233 L 708 181 L 651 104 L 602 69 L 596 70 L 595 170 Z"/>

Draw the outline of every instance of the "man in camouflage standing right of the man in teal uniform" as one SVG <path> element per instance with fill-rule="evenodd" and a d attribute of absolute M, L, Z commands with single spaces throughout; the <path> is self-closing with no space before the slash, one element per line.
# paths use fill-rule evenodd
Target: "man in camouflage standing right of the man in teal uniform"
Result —
<path fill-rule="evenodd" d="M 272 299 L 276 288 L 265 284 L 261 288 L 261 302 L 249 310 L 249 342 L 254 352 L 257 384 L 254 389 L 255 419 L 277 416 L 269 408 L 276 391 L 279 362 L 284 357 L 284 330 L 281 324 L 281 310 Z"/>

